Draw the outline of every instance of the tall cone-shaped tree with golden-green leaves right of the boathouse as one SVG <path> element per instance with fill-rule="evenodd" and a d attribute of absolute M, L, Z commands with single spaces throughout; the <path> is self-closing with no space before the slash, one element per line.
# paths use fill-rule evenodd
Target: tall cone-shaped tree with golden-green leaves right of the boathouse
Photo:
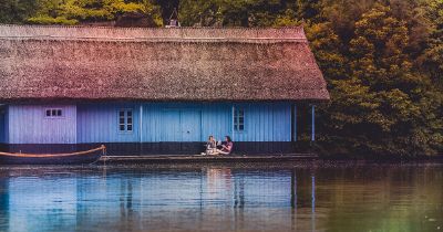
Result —
<path fill-rule="evenodd" d="M 406 53 L 409 41 L 406 23 L 394 18 L 390 7 L 375 3 L 356 22 L 354 38 L 349 45 L 351 76 L 347 82 L 357 83 L 358 89 L 368 89 L 357 99 L 365 98 L 362 103 L 371 107 L 358 112 L 348 109 L 344 118 L 350 126 L 347 131 L 353 130 L 360 137 L 353 145 L 360 151 L 402 155 L 436 151 L 440 123 L 433 117 L 435 127 L 429 127 L 426 117 L 436 112 L 427 103 L 437 106 L 441 99 L 429 96 L 430 80 L 412 68 Z M 342 93 L 349 94 L 346 89 Z"/>

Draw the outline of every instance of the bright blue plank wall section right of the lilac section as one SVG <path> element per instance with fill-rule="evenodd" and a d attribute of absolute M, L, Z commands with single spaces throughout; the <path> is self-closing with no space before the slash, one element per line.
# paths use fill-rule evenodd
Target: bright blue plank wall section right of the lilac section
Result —
<path fill-rule="evenodd" d="M 234 135 L 233 106 L 245 109 L 245 130 Z M 132 133 L 119 131 L 119 109 L 133 110 Z M 229 135 L 237 141 L 290 141 L 290 120 L 287 103 L 82 104 L 76 136 L 79 144 L 205 141 L 208 135 L 218 140 Z"/>

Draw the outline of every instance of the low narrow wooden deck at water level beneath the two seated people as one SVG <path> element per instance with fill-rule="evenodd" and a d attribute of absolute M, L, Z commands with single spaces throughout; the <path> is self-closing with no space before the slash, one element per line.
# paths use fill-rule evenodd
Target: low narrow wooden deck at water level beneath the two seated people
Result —
<path fill-rule="evenodd" d="M 317 159 L 316 154 L 285 154 L 285 155 L 161 155 L 161 156 L 103 156 L 102 164 L 147 164 L 147 162 L 254 162 L 254 161 L 291 161 Z"/>

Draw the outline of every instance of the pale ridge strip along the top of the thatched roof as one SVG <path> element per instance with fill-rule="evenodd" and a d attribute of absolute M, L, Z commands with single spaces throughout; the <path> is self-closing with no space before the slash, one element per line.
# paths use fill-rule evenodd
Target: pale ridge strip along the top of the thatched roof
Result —
<path fill-rule="evenodd" d="M 112 28 L 83 25 L 0 24 L 0 38 L 306 40 L 302 27 L 287 28 Z"/>

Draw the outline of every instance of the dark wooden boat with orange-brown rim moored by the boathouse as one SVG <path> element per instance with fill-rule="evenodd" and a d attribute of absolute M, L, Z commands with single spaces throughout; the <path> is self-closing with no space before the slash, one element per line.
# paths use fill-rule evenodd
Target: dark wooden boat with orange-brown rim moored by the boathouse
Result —
<path fill-rule="evenodd" d="M 85 151 L 71 154 L 10 154 L 0 152 L 0 165 L 83 165 L 92 164 L 104 156 L 104 145 Z"/>

